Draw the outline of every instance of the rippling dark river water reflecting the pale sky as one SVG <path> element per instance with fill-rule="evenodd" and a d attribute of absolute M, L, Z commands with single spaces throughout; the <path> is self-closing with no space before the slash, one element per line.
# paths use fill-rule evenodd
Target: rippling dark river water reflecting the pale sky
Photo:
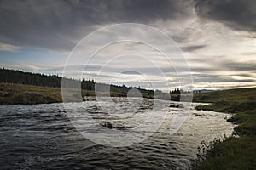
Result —
<path fill-rule="evenodd" d="M 159 102 L 156 110 L 153 99 L 114 98 L 104 102 L 102 106 L 96 99 L 88 98 L 65 107 L 0 105 L 0 169 L 188 169 L 201 141 L 223 138 L 234 128 L 225 120 L 228 114 L 196 111 L 195 105 L 201 104 L 190 105 L 185 114 L 183 108 L 169 107 L 171 103 L 176 105 L 170 101 Z M 137 109 L 131 111 L 134 108 Z M 83 110 L 90 113 L 97 125 L 81 133 L 72 117 L 81 115 Z M 113 147 L 86 138 L 87 133 L 93 134 L 92 130 L 129 133 L 150 114 L 166 117 L 160 128 L 136 144 Z M 176 133 L 170 133 L 174 116 L 186 119 Z M 102 127 L 105 122 L 113 128 Z"/>

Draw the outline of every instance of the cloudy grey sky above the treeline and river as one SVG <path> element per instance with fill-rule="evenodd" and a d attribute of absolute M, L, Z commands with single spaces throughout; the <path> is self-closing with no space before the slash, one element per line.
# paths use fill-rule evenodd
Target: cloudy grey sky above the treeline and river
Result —
<path fill-rule="evenodd" d="M 256 84 L 254 0 L 1 0 L 0 20 L 0 67 L 163 91 L 183 75 Z"/>

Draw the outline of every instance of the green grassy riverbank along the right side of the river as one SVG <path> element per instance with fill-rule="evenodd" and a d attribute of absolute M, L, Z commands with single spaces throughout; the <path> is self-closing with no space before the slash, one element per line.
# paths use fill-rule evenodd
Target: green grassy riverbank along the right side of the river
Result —
<path fill-rule="evenodd" d="M 194 101 L 211 105 L 197 106 L 198 110 L 233 113 L 228 120 L 238 123 L 237 136 L 201 148 L 194 169 L 256 169 L 256 88 L 242 88 L 195 94 Z"/>

